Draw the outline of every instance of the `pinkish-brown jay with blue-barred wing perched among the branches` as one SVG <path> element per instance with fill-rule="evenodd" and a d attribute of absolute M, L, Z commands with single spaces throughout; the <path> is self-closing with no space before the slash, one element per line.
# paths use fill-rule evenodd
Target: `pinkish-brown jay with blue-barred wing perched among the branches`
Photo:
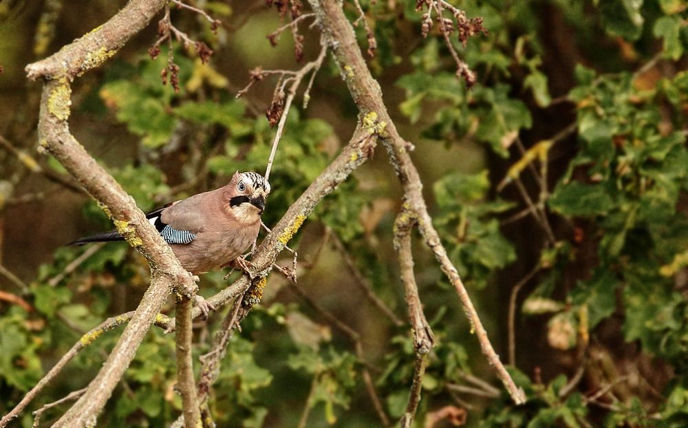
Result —
<path fill-rule="evenodd" d="M 146 215 L 192 275 L 233 265 L 255 243 L 270 183 L 257 172 L 235 172 L 221 188 L 174 201 Z M 86 236 L 67 245 L 124 240 L 116 230 Z M 204 315 L 214 310 L 197 299 Z M 207 306 L 206 306 L 207 305 Z"/>

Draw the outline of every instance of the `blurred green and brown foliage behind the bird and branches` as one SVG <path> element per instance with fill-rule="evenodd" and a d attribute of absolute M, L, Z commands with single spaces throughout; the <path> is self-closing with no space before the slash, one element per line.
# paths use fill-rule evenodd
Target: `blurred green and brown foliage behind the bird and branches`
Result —
<path fill-rule="evenodd" d="M 688 426 L 687 3 L 450 3 L 482 16 L 488 30 L 465 46 L 452 37 L 477 75 L 473 89 L 455 77 L 437 28 L 421 36 L 413 1 L 361 0 L 377 43 L 369 67 L 400 133 L 416 145 L 451 259 L 529 401 L 515 407 L 502 392 L 419 239 L 416 278 L 438 345 L 416 426 Z M 40 84 L 23 73 L 123 4 L 0 2 L 1 414 L 85 331 L 136 308 L 148 284 L 147 264 L 125 243 L 63 247 L 111 225 L 54 159 L 36 153 Z M 174 43 L 179 93 L 160 78 L 168 48 L 154 60 L 147 54 L 154 24 L 74 85 L 72 132 L 142 210 L 219 187 L 235 170 L 262 172 L 274 133 L 264 111 L 277 79 L 257 82 L 241 100 L 235 94 L 257 66 L 301 67 L 288 32 L 276 47 L 266 38 L 289 14 L 261 0 L 193 4 L 222 25 L 213 34 L 197 14 L 173 8 L 173 23 L 214 51 L 204 65 Z M 356 20 L 354 3 L 343 7 Z M 319 51 L 310 22 L 299 25 L 305 60 Z M 356 31 L 365 52 L 363 25 Z M 290 111 L 267 225 L 355 125 L 327 58 L 308 108 L 299 95 Z M 319 308 L 270 276 L 263 303 L 230 342 L 211 401 L 219 426 L 380 426 L 364 367 L 387 417 L 402 415 L 414 356 L 407 322 L 396 322 L 406 313 L 391 243 L 399 196 L 378 149 L 308 218 L 292 247 L 299 287 Z M 290 254 L 279 263 L 290 265 Z M 200 292 L 221 289 L 225 274 L 204 275 Z M 362 352 L 321 311 L 356 331 Z M 219 319 L 197 323 L 195 355 L 208 350 Z M 31 409 L 87 385 L 117 337 L 111 331 L 81 351 Z M 151 330 L 98 425 L 169 425 L 180 414 L 174 383 L 173 338 Z M 15 424 L 29 427 L 30 412 Z"/>

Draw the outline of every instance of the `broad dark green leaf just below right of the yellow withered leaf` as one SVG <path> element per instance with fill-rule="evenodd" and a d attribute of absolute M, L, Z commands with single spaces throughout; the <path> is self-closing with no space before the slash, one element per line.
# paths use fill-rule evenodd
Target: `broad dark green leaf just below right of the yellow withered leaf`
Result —
<path fill-rule="evenodd" d="M 602 185 L 580 181 L 559 183 L 548 203 L 552 210 L 565 216 L 605 215 L 614 207 L 612 197 Z"/>

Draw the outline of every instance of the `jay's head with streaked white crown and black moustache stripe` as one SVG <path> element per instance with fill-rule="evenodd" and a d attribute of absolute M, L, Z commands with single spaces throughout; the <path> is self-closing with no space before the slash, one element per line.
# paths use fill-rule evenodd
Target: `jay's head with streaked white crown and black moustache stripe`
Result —
<path fill-rule="evenodd" d="M 270 183 L 261 174 L 237 171 L 225 188 L 230 210 L 242 217 L 263 214 Z"/>

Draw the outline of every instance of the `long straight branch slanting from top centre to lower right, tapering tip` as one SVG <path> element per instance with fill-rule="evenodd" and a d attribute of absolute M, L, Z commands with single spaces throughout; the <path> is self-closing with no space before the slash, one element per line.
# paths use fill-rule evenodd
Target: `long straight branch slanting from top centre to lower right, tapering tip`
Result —
<path fill-rule="evenodd" d="M 354 102 L 361 111 L 363 126 L 371 132 L 386 137 L 383 142 L 404 189 L 408 208 L 418 218 L 418 227 L 425 238 L 425 242 L 433 251 L 442 271 L 447 275 L 458 293 L 464 311 L 475 329 L 478 341 L 480 341 L 482 352 L 488 361 L 495 366 L 497 376 L 502 380 L 513 400 L 519 404 L 524 403 L 526 396 L 523 390 L 515 385 L 506 368 L 499 361 L 499 356 L 487 337 L 487 332 L 482 326 L 466 287 L 458 271 L 449 260 L 447 251 L 440 242 L 440 236 L 433 227 L 432 218 L 427 212 L 427 206 L 422 196 L 420 176 L 409 155 L 409 150 L 412 150 L 413 146 L 405 142 L 396 131 L 396 126 L 391 121 L 383 102 L 380 85 L 373 79 L 365 64 L 361 49 L 356 43 L 354 30 L 343 13 L 341 3 L 329 0 L 309 0 L 309 2 L 318 16 L 319 26 L 325 35 L 325 41 L 334 52 L 341 75 L 349 87 Z"/>

